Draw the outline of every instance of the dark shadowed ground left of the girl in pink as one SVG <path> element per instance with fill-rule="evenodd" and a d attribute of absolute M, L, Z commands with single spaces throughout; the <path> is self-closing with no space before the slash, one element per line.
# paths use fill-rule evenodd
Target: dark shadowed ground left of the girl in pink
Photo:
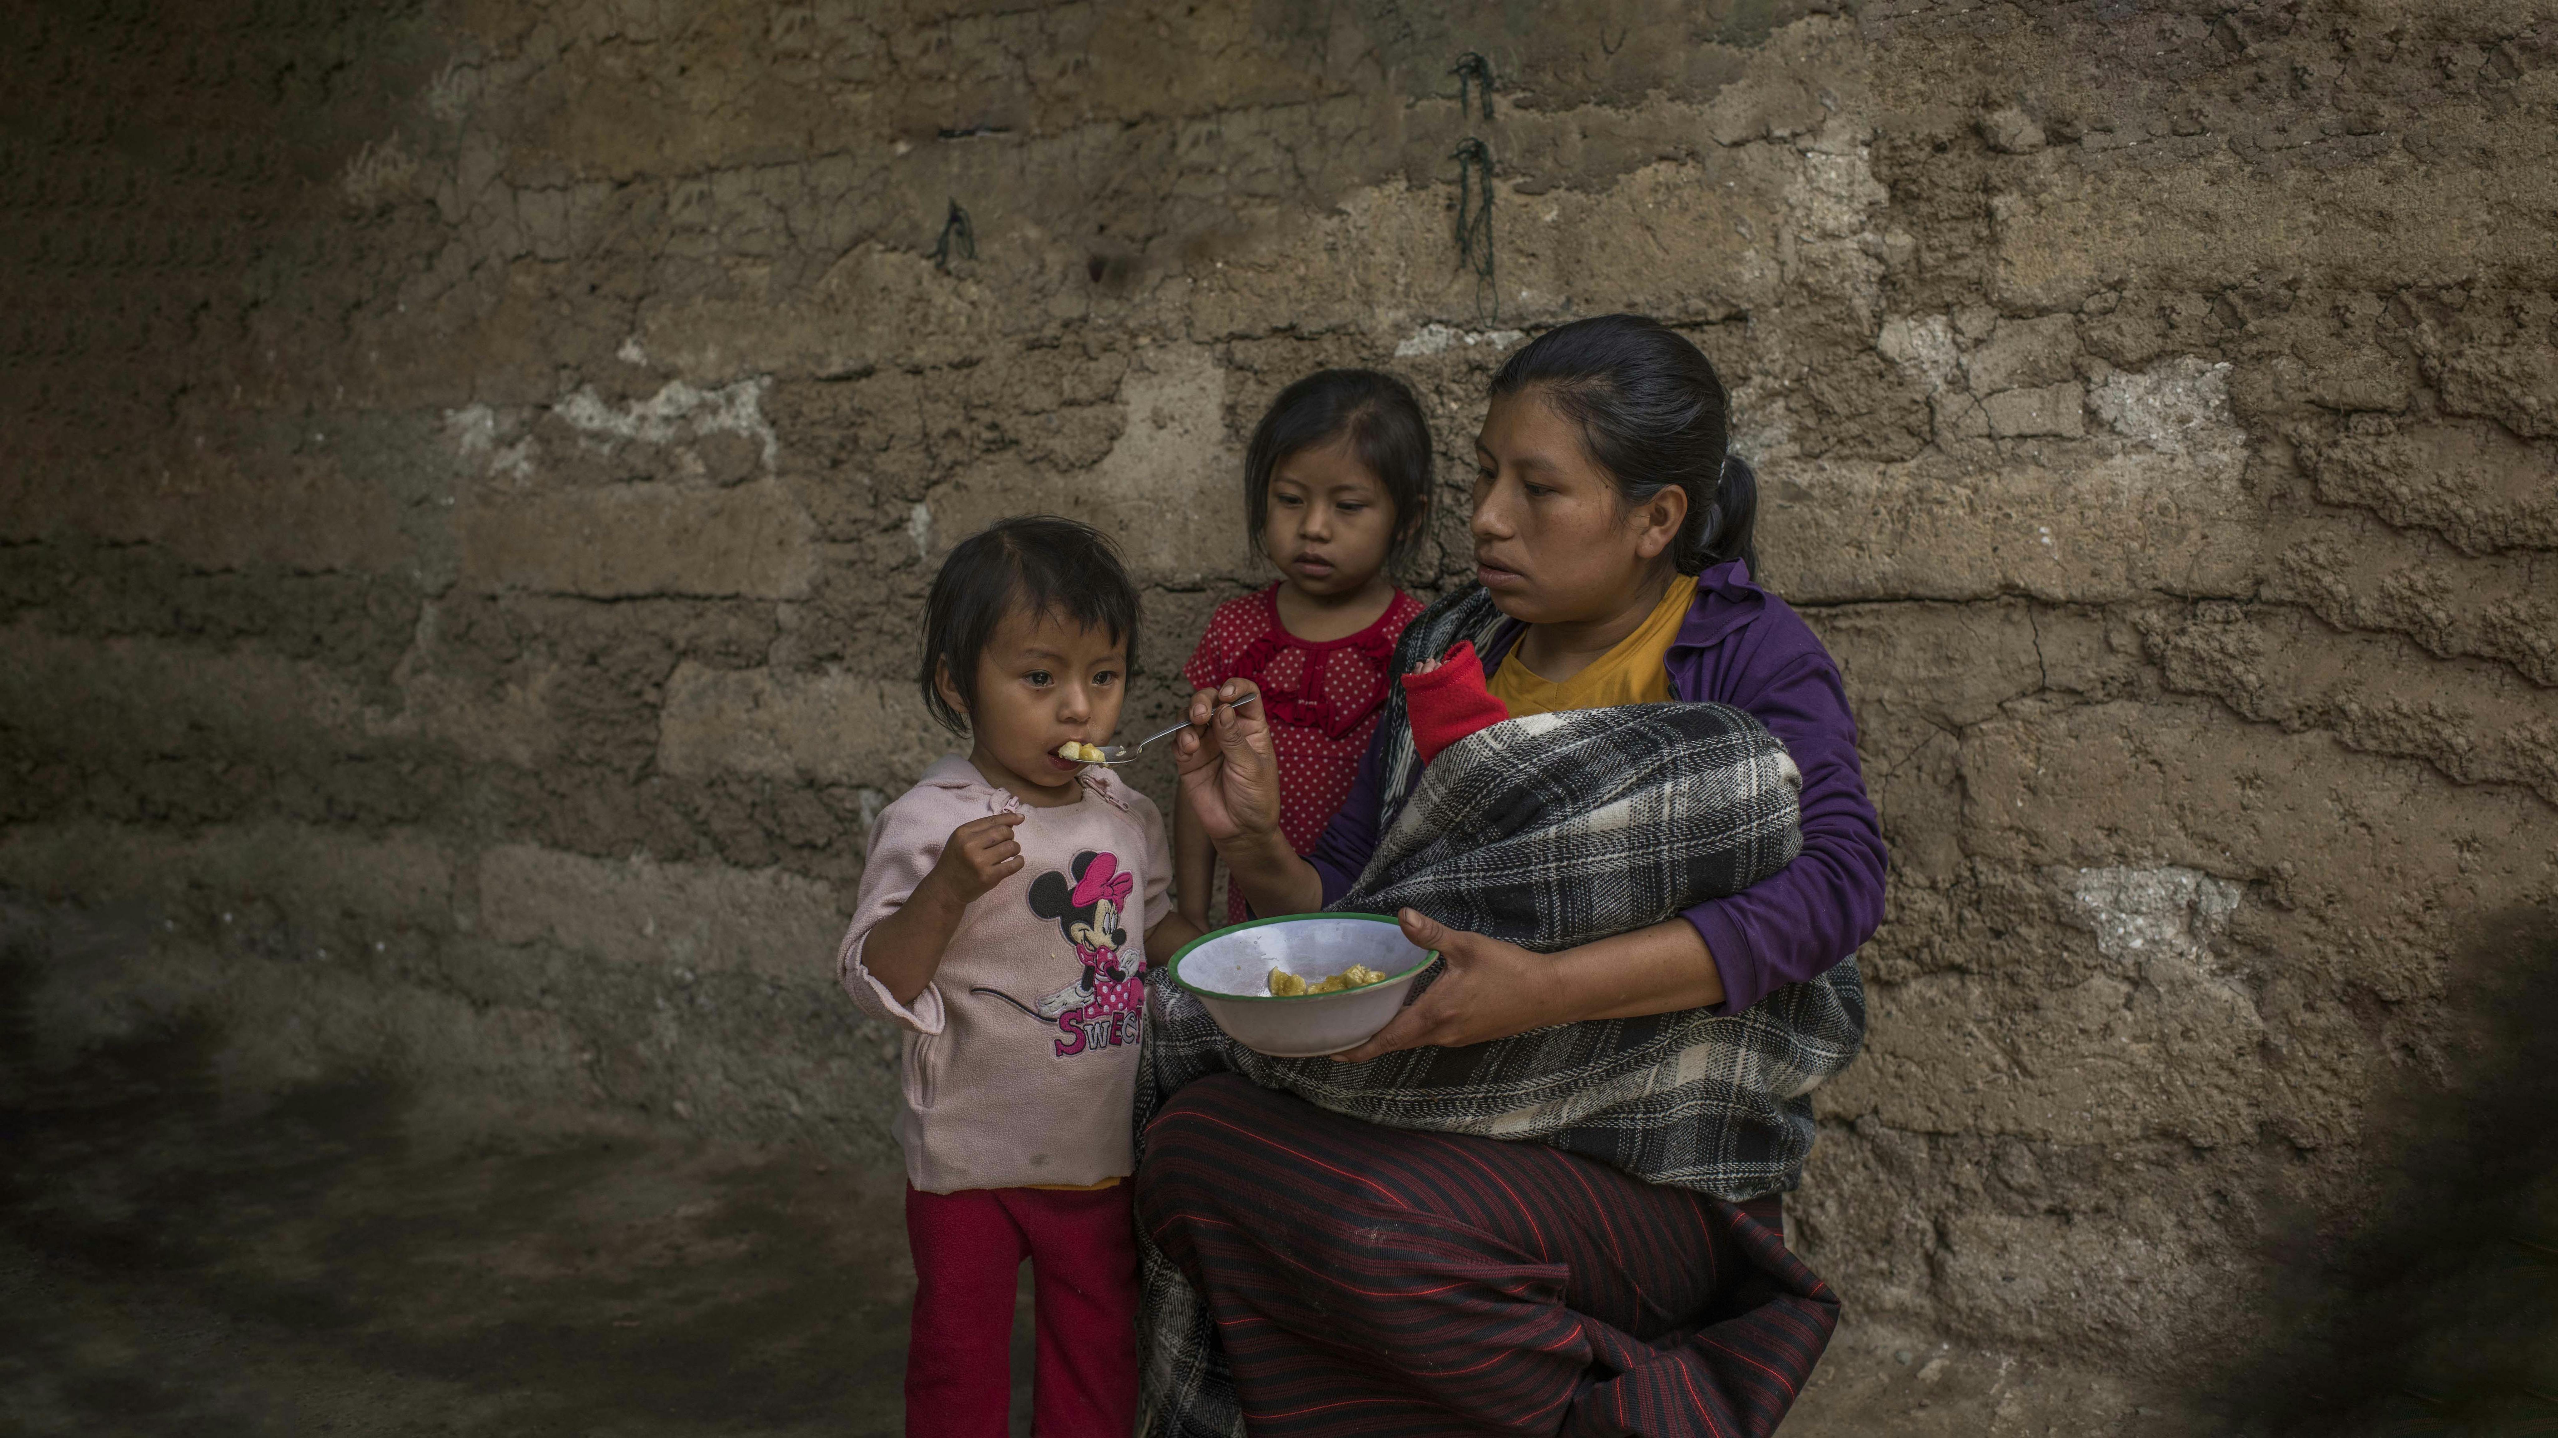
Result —
<path fill-rule="evenodd" d="M 368 1077 L 225 1100 L 207 1029 L 33 1067 L 28 980 L 0 960 L 0 1430 L 903 1428 L 895 1177 L 435 1139 Z"/>

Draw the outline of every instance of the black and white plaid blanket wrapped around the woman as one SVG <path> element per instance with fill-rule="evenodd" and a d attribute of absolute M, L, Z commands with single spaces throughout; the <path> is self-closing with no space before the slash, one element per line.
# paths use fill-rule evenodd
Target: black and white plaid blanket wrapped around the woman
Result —
<path fill-rule="evenodd" d="M 1481 589 L 1448 596 L 1404 632 L 1394 670 L 1489 635 L 1496 619 Z M 1381 729 L 1392 821 L 1338 911 L 1412 906 L 1453 929 L 1558 952 L 1739 893 L 1801 847 L 1793 762 L 1739 709 L 1525 716 L 1458 739 L 1422 768 L 1402 686 L 1389 686 Z M 1814 1139 L 1809 1095 L 1855 1059 L 1862 1036 L 1852 957 L 1737 1016 L 1555 1023 L 1363 1064 L 1256 1054 L 1200 1000 L 1151 983 L 1138 1149 L 1164 1095 L 1230 1070 L 1369 1123 L 1548 1144 L 1645 1182 L 1747 1200 L 1796 1187 Z M 1241 1433 L 1197 1295 L 1146 1233 L 1138 1256 L 1149 1433 Z"/>

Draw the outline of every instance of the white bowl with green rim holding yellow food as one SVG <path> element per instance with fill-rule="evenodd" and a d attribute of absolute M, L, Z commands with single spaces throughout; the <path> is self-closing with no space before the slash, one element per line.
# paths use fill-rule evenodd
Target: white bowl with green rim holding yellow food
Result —
<path fill-rule="evenodd" d="M 1200 995 L 1218 1029 L 1274 1059 L 1312 1059 L 1366 1044 L 1404 1006 L 1438 954 L 1404 939 L 1384 913 L 1294 913 L 1202 934 L 1172 954 L 1172 983 Z M 1274 998 L 1269 972 L 1320 983 L 1369 965 L 1386 983 L 1346 993 Z"/>

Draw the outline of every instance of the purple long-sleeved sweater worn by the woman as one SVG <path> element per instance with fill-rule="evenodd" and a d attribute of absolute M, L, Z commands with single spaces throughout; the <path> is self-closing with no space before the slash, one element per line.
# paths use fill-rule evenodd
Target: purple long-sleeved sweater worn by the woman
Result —
<path fill-rule="evenodd" d="M 1522 632 L 1517 622 L 1494 632 L 1484 673 Z M 1839 665 L 1801 614 L 1750 583 L 1739 560 L 1696 576 L 1696 606 L 1665 665 L 1675 699 L 1750 711 L 1803 770 L 1803 852 L 1732 898 L 1688 908 L 1724 977 L 1719 1013 L 1739 1013 L 1775 988 L 1829 972 L 1883 924 L 1883 826 L 1865 798 Z M 1325 903 L 1348 893 L 1376 852 L 1384 747 L 1379 729 L 1351 798 L 1307 855 Z"/>

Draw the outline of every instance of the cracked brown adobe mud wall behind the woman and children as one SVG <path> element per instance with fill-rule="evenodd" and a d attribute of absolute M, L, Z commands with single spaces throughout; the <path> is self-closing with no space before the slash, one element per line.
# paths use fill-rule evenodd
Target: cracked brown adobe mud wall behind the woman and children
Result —
<path fill-rule="evenodd" d="M 944 745 L 939 553 L 1118 532 L 1156 722 L 1259 583 L 1279 384 L 1392 366 L 1463 455 L 1522 333 L 1604 310 L 1724 366 L 1865 727 L 1893 908 L 1796 1208 L 1860 1315 L 2162 1371 L 2269 1205 L 2353 1208 L 2481 916 L 2558 898 L 2548 3 L 64 0 L 10 43 L 46 1044 L 194 1013 L 243 1085 L 880 1162 L 829 949 Z"/>

